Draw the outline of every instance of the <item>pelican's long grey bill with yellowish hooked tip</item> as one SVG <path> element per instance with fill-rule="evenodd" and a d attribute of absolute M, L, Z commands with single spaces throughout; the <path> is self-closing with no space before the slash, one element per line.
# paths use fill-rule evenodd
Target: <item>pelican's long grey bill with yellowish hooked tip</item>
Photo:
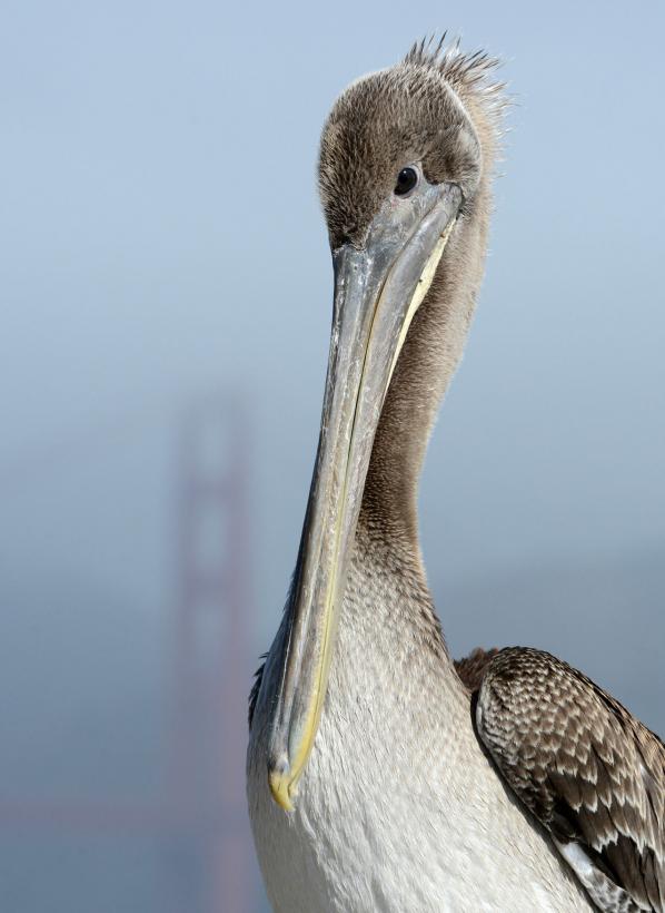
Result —
<path fill-rule="evenodd" d="M 460 204 L 456 185 L 386 204 L 366 245 L 334 252 L 335 305 L 321 428 L 287 606 L 268 776 L 292 808 L 326 689 L 376 428 L 401 345 Z"/>

